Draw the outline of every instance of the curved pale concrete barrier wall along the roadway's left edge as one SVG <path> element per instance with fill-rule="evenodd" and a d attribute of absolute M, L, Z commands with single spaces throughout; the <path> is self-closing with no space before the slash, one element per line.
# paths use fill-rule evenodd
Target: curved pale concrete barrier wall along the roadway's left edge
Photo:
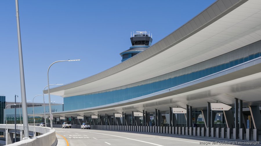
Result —
<path fill-rule="evenodd" d="M 0 128 L 14 129 L 14 124 L 0 124 Z M 29 126 L 29 131 L 35 131 L 42 135 L 33 137 L 32 139 L 22 140 L 16 143 L 9 144 L 8 146 L 55 146 L 57 138 L 55 129 L 49 127 Z M 17 125 L 17 130 L 23 130 L 23 125 Z"/>

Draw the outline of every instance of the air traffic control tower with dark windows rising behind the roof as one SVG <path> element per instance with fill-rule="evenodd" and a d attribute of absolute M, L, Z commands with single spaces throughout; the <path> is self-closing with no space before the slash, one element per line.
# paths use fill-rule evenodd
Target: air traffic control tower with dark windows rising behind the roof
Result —
<path fill-rule="evenodd" d="M 151 46 L 152 34 L 146 31 L 136 31 L 136 33 L 131 33 L 131 44 L 130 49 L 120 53 L 122 56 L 122 62 L 133 57 L 134 55 L 146 50 Z"/>

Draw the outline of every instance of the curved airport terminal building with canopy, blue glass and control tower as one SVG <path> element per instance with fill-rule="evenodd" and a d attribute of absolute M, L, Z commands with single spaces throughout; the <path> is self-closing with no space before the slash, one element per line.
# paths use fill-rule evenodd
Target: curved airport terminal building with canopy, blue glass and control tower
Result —
<path fill-rule="evenodd" d="M 261 1 L 217 0 L 153 45 L 147 32 L 133 34 L 131 41 L 131 48 L 121 53 L 122 63 L 50 89 L 64 98 L 52 113 L 54 123 L 258 138 Z M 225 110 L 225 105 L 232 108 Z"/>

